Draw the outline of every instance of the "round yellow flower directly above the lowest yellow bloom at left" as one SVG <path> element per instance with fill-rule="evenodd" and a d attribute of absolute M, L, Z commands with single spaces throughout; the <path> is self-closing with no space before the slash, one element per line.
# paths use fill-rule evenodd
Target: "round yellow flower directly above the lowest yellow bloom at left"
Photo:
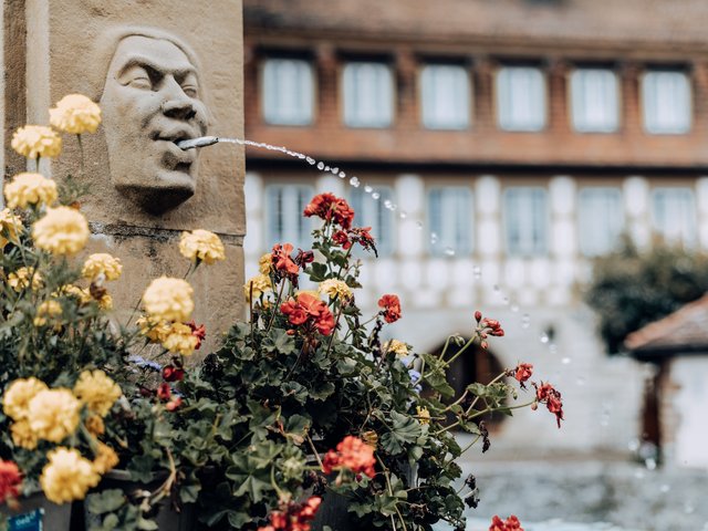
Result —
<path fill-rule="evenodd" d="M 30 428 L 40 439 L 60 442 L 79 426 L 81 402 L 64 388 L 40 391 L 28 406 Z"/>

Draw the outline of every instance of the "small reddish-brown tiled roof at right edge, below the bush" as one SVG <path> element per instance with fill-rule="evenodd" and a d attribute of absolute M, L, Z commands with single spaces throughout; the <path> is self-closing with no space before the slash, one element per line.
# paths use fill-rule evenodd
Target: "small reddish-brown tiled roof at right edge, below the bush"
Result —
<path fill-rule="evenodd" d="M 708 294 L 629 334 L 624 344 L 639 357 L 652 352 L 708 352 Z"/>

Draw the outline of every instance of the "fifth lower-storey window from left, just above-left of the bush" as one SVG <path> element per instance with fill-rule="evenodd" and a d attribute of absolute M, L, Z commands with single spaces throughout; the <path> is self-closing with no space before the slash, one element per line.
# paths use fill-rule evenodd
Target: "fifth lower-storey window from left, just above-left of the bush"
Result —
<path fill-rule="evenodd" d="M 616 188 L 584 188 L 579 197 L 581 252 L 597 257 L 612 251 L 624 222 L 622 192 Z"/>

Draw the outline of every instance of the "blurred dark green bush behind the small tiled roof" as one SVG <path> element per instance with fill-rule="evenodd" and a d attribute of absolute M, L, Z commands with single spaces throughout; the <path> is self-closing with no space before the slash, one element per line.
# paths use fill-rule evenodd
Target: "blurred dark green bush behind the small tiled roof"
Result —
<path fill-rule="evenodd" d="M 616 252 L 598 258 L 585 293 L 600 320 L 608 353 L 621 352 L 625 337 L 708 291 L 708 256 L 656 242 L 639 251 L 625 240 Z"/>

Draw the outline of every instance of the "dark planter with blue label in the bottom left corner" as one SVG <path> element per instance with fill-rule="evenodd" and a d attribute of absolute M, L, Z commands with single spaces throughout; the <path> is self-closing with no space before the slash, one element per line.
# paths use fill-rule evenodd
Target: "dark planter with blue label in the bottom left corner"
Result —
<path fill-rule="evenodd" d="M 69 531 L 71 503 L 58 506 L 41 492 L 19 501 L 20 508 L 17 511 L 8 506 L 0 507 L 0 512 L 10 518 L 8 531 Z"/>

